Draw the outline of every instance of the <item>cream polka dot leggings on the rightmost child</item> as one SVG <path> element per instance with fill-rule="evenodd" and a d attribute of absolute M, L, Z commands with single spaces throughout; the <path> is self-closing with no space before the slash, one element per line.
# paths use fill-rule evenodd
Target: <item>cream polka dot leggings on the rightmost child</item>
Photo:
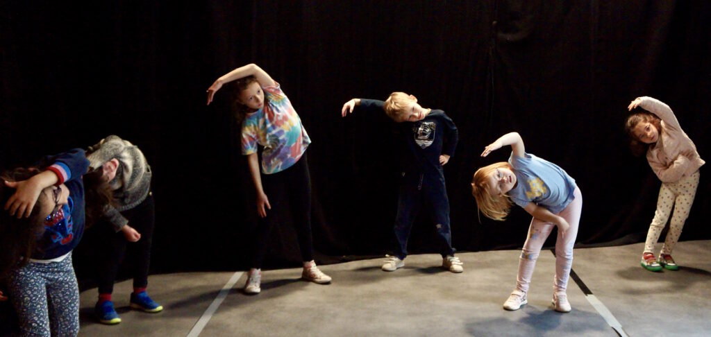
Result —
<path fill-rule="evenodd" d="M 664 240 L 662 254 L 671 254 L 674 245 L 679 240 L 684 222 L 689 217 L 691 204 L 696 196 L 696 188 L 699 186 L 699 172 L 683 177 L 678 182 L 663 182 L 659 189 L 659 199 L 657 200 L 657 210 L 654 212 L 654 219 L 647 232 L 647 241 L 644 243 L 644 252 L 654 253 L 654 245 L 662 233 L 672 206 L 674 214 L 669 224 L 669 232 Z"/>

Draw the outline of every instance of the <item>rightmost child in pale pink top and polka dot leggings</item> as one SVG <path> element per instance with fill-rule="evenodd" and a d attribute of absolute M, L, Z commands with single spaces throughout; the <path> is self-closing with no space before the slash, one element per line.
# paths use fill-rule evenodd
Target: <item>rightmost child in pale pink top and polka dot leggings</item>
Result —
<path fill-rule="evenodd" d="M 640 107 L 644 111 L 631 114 L 625 123 L 630 138 L 630 148 L 635 155 L 646 152 L 647 162 L 661 180 L 657 210 L 647 232 L 641 265 L 653 272 L 678 270 L 671 257 L 679 240 L 681 230 L 689 216 L 691 204 L 699 186 L 699 168 L 705 161 L 696 151 L 693 141 L 681 129 L 679 121 L 668 105 L 651 97 L 638 97 L 627 109 Z M 669 219 L 669 232 L 664 240 L 659 257 L 654 256 L 654 245 Z"/>

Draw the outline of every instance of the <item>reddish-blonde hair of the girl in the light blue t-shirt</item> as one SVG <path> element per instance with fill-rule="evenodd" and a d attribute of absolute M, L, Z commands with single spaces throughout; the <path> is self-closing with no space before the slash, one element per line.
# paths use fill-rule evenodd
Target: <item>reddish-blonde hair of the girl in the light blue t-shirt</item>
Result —
<path fill-rule="evenodd" d="M 507 168 L 512 170 L 508 162 L 495 162 L 481 167 L 474 172 L 471 179 L 471 195 L 476 199 L 476 208 L 489 219 L 503 221 L 511 210 L 513 202 L 506 195 L 493 195 L 489 190 L 486 180 L 496 172 L 496 169 Z"/>

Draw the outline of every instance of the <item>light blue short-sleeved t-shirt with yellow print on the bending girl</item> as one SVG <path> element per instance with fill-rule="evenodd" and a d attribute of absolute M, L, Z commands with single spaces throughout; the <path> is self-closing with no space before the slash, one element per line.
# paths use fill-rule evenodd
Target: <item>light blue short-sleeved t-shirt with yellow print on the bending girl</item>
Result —
<path fill-rule="evenodd" d="M 533 202 L 558 214 L 575 198 L 575 179 L 558 165 L 529 153 L 518 157 L 513 152 L 508 163 L 513 167 L 517 184 L 507 194 L 518 206 Z"/>

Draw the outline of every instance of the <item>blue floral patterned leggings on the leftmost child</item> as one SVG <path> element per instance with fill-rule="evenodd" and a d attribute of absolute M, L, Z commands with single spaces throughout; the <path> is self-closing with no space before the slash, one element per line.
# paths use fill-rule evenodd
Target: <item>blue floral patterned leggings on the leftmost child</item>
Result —
<path fill-rule="evenodd" d="M 79 333 L 79 287 L 71 253 L 61 262 L 29 263 L 13 270 L 9 295 L 22 336 Z"/>

